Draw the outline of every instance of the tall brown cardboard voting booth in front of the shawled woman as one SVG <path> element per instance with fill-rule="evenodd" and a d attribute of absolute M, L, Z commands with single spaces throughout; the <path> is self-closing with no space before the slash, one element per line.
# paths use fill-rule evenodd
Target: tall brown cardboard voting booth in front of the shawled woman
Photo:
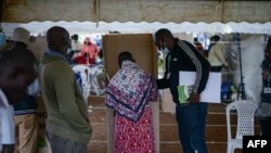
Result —
<path fill-rule="evenodd" d="M 104 51 L 104 68 L 108 78 L 105 84 L 108 84 L 116 72 L 118 66 L 118 54 L 122 51 L 129 51 L 136 59 L 136 63 L 140 68 L 157 76 L 157 52 L 151 34 L 114 34 L 103 36 L 103 51 Z M 159 107 L 158 102 L 152 103 L 154 130 L 155 130 L 155 144 L 156 152 L 159 152 Z M 107 152 L 112 153 L 114 149 L 114 115 L 113 110 L 107 109 L 107 133 L 108 143 Z"/>

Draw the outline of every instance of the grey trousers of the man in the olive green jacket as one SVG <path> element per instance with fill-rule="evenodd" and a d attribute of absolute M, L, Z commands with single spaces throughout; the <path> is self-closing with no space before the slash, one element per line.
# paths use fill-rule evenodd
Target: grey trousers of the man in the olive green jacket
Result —
<path fill-rule="evenodd" d="M 52 153 L 89 153 L 87 143 L 47 133 Z"/>

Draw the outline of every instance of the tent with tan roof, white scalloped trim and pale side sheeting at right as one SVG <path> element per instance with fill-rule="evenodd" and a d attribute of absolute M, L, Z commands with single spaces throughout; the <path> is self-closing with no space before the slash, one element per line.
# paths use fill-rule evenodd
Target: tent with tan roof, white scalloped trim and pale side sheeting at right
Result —
<path fill-rule="evenodd" d="M 232 53 L 230 58 L 235 72 L 238 72 L 238 54 L 231 34 L 240 33 L 246 91 L 250 97 L 258 97 L 260 85 L 250 84 L 260 81 L 259 68 L 250 72 L 249 67 L 259 65 L 266 35 L 271 34 L 269 0 L 1 0 L 0 2 L 0 27 L 8 36 L 11 36 L 17 26 L 26 27 L 35 35 L 44 34 L 52 25 L 64 26 L 70 34 L 108 31 L 149 34 L 160 27 L 169 28 L 176 34 L 228 34 L 229 37 L 225 36 L 223 40 L 225 50 Z M 238 84 L 240 75 L 236 75 L 234 80 Z"/>

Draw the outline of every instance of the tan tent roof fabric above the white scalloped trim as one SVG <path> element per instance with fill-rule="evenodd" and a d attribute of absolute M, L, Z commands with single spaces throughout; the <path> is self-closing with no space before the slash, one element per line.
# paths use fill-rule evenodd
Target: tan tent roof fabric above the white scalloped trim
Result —
<path fill-rule="evenodd" d="M 270 0 L 4 0 L 1 21 L 267 23 L 270 5 Z"/>

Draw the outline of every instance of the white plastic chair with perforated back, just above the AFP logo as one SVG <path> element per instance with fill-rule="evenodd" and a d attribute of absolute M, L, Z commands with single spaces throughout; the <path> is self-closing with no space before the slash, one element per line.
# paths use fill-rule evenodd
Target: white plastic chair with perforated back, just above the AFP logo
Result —
<path fill-rule="evenodd" d="M 253 100 L 236 100 L 230 103 L 225 110 L 228 148 L 227 153 L 234 153 L 235 149 L 243 149 L 243 136 L 254 136 L 255 133 L 255 111 L 257 103 Z M 235 138 L 232 137 L 231 130 L 231 111 L 237 113 L 237 129 Z"/>

